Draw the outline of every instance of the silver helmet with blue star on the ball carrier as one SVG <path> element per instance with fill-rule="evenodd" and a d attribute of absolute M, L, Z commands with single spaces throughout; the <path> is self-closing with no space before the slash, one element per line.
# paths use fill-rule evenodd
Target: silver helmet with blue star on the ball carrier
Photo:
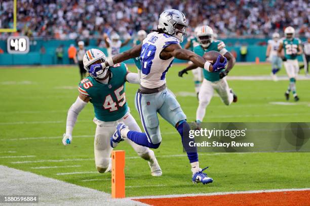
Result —
<path fill-rule="evenodd" d="M 183 41 L 183 36 L 186 36 L 187 22 L 184 14 L 179 10 L 168 9 L 164 11 L 159 18 L 158 29 L 163 29 L 164 32 Z"/>

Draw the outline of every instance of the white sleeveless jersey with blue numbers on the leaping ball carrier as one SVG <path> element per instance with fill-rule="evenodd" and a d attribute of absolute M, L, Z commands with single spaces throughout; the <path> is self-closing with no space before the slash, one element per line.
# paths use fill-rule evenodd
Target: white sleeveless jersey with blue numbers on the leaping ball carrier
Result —
<path fill-rule="evenodd" d="M 160 54 L 164 48 L 171 44 L 180 44 L 173 36 L 152 32 L 143 40 L 141 61 L 141 86 L 157 88 L 166 83 L 166 73 L 172 65 L 174 57 L 162 60 Z"/>

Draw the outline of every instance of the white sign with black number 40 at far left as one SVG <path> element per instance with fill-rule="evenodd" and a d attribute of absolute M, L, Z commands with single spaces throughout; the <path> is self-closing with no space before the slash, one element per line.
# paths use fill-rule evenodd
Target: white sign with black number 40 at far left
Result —
<path fill-rule="evenodd" d="M 29 38 L 27 36 L 10 36 L 7 41 L 9 54 L 27 54 L 29 52 Z"/>

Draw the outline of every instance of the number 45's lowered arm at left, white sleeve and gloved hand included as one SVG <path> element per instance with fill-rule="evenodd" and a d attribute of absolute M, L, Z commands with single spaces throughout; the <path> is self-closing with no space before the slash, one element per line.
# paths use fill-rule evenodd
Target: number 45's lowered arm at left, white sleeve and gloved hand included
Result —
<path fill-rule="evenodd" d="M 62 143 L 64 145 L 68 145 L 72 142 L 72 131 L 75 125 L 76 119 L 78 119 L 79 113 L 83 110 L 83 108 L 87 105 L 90 98 L 84 96 L 80 93 L 78 98 L 76 98 L 75 102 L 72 104 L 68 111 L 67 122 L 66 122 L 66 133 L 63 134 Z"/>

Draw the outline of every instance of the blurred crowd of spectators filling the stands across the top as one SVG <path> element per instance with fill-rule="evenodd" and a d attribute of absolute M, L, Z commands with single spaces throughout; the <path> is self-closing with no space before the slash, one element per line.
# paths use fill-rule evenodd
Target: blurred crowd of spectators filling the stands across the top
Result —
<path fill-rule="evenodd" d="M 8 0 L 1 2 L 8 7 Z M 182 11 L 191 29 L 207 24 L 220 37 L 266 36 L 288 25 L 299 36 L 310 32 L 308 0 L 18 0 L 17 28 L 29 37 L 85 39 L 111 31 L 122 36 L 157 28 L 166 9 Z M 4 11 L 2 25 L 10 24 Z"/>

